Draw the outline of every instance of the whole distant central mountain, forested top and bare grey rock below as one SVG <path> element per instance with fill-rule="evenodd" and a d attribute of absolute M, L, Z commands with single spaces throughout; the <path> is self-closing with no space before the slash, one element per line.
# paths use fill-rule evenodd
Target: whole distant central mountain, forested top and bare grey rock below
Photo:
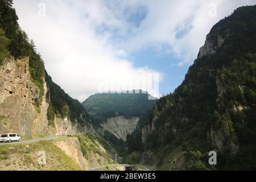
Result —
<path fill-rule="evenodd" d="M 149 100 L 150 94 L 139 92 L 97 93 L 88 97 L 82 105 L 96 125 L 126 140 L 126 135 L 137 126 L 139 118 L 151 110 L 156 100 Z"/>

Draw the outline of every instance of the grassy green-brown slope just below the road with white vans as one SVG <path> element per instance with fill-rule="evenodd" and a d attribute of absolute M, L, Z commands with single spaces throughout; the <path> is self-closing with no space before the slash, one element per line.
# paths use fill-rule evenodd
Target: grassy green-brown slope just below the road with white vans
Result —
<path fill-rule="evenodd" d="M 65 138 L 60 138 L 57 140 L 63 140 Z M 82 170 L 81 167 L 76 164 L 68 155 L 65 154 L 59 147 L 55 146 L 53 142 L 56 140 L 39 141 L 29 144 L 5 144 L 0 147 L 0 160 L 1 164 L 5 160 L 10 160 L 11 155 L 18 155 L 21 160 L 22 166 L 27 166 L 28 168 L 32 165 L 38 169 L 42 170 Z M 38 151 L 46 152 L 46 165 L 38 164 Z M 20 163 L 20 162 L 19 162 Z M 9 166 L 11 163 L 6 163 Z M 14 163 L 15 165 L 16 163 Z"/>

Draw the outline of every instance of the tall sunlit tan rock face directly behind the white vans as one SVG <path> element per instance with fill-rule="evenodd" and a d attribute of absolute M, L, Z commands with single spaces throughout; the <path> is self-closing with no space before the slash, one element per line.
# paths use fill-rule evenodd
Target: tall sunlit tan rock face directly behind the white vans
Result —
<path fill-rule="evenodd" d="M 45 94 L 39 114 L 34 102 L 40 90 L 30 80 L 28 61 L 28 57 L 10 58 L 0 66 L 0 133 L 19 133 L 25 138 L 48 134 Z"/>

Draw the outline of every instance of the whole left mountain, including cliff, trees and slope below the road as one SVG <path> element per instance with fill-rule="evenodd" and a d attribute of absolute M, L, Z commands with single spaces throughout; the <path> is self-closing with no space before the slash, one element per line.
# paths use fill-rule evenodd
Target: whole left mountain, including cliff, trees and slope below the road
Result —
<path fill-rule="evenodd" d="M 1 145 L 0 169 L 88 170 L 113 164 L 113 148 L 97 135 L 80 102 L 52 81 L 12 5 L 0 1 L 0 134 L 18 133 L 28 142 Z M 56 134 L 64 136 L 47 138 Z M 39 151 L 47 156 L 44 165 Z"/>

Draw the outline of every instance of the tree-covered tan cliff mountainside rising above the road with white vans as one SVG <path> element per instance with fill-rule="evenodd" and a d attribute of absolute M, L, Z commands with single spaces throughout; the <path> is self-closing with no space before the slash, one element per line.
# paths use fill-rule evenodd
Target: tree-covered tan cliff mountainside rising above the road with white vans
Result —
<path fill-rule="evenodd" d="M 34 138 L 92 132 L 84 107 L 45 71 L 34 42 L 19 27 L 12 1 L 1 1 L 0 9 L 0 133 Z"/>

